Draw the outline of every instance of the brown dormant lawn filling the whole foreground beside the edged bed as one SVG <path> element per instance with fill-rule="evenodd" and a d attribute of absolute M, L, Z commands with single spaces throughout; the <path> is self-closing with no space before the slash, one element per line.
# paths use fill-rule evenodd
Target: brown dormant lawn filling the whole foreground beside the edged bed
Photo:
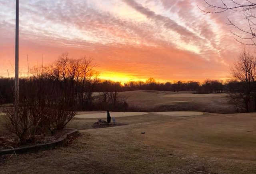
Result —
<path fill-rule="evenodd" d="M 157 116 L 158 120 L 152 121 Z M 255 113 L 169 118 L 149 114 L 138 120 L 144 122 L 80 130 L 80 138 L 68 147 L 13 156 L 0 166 L 0 171 L 111 174 L 256 172 Z M 141 131 L 146 133 L 140 134 Z"/>

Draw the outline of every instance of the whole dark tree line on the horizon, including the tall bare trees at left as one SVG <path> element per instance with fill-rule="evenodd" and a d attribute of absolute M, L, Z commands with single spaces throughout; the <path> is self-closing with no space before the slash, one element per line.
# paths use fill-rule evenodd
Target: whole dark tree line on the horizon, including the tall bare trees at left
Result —
<path fill-rule="evenodd" d="M 106 102 L 107 96 L 115 96 L 116 94 L 107 94 L 110 92 L 123 92 L 131 90 L 158 90 L 158 91 L 191 91 L 196 94 L 222 93 L 232 91 L 233 82 L 223 84 L 219 80 L 205 80 L 202 84 L 196 81 L 188 82 L 165 82 L 159 83 L 154 78 L 149 78 L 146 82 L 130 81 L 125 84 L 114 82 L 111 80 L 100 80 L 94 76 L 93 68 L 90 67 L 91 62 L 83 60 L 82 64 L 77 60 L 58 59 L 50 68 L 46 68 L 43 73 L 36 70 L 34 75 L 28 78 L 20 78 L 20 100 L 27 96 L 28 86 L 36 82 L 41 82 L 40 93 L 50 95 L 53 98 L 56 96 L 65 96 L 70 106 L 76 104 L 80 110 L 86 110 L 92 106 L 94 100 L 93 92 L 101 92 L 104 95 Z M 79 70 L 79 67 L 87 67 Z M 86 65 L 87 64 L 87 65 Z M 89 68 L 90 67 L 90 68 Z M 81 72 L 82 71 L 82 72 Z M 90 72 L 91 71 L 91 72 Z M 0 96 L 2 103 L 10 103 L 13 101 L 14 78 L 0 78 Z M 39 86 L 38 86 L 39 88 Z M 68 96 L 67 96 L 68 95 Z M 116 97 L 111 97 L 116 98 Z M 112 99 L 113 103 L 116 99 Z"/>

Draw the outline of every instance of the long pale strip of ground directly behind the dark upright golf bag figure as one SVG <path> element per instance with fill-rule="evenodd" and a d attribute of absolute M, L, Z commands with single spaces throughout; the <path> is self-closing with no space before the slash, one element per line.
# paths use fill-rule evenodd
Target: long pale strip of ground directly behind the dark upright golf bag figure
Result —
<path fill-rule="evenodd" d="M 148 114 L 148 112 L 110 112 L 111 117 L 126 117 Z M 76 115 L 75 118 L 106 118 L 107 113 L 81 114 Z"/>

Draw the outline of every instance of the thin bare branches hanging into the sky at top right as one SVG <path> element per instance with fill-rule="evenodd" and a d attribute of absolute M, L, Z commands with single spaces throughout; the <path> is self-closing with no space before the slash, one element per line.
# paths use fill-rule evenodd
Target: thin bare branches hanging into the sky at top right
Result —
<path fill-rule="evenodd" d="M 231 33 L 234 34 L 237 37 L 236 40 L 242 44 L 256 45 L 256 3 L 250 0 L 219 0 L 214 1 L 215 4 L 210 3 L 209 0 L 204 0 L 204 2 L 207 5 L 205 9 L 198 7 L 205 13 L 216 14 L 231 11 L 243 16 L 244 20 L 248 23 L 247 29 L 244 28 L 244 24 L 240 22 L 241 25 L 235 24 L 234 21 L 228 18 L 228 24 L 238 30 L 238 32 L 231 31 Z M 250 42 L 244 42 L 247 40 Z"/>

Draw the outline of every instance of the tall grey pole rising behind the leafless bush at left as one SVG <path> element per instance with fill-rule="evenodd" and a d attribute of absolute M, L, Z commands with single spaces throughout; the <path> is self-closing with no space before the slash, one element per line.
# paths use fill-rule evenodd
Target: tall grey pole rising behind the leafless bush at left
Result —
<path fill-rule="evenodd" d="M 16 0 L 16 30 L 15 30 L 15 82 L 14 82 L 14 102 L 15 114 L 18 116 L 19 107 L 19 0 Z"/>

